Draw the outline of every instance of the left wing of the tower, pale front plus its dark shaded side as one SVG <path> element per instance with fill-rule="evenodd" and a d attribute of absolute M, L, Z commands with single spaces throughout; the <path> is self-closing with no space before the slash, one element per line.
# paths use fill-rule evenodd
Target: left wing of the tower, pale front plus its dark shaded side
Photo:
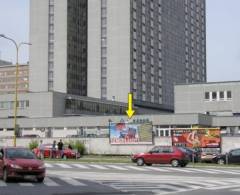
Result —
<path fill-rule="evenodd" d="M 30 91 L 87 95 L 87 0 L 31 0 L 30 41 Z"/>

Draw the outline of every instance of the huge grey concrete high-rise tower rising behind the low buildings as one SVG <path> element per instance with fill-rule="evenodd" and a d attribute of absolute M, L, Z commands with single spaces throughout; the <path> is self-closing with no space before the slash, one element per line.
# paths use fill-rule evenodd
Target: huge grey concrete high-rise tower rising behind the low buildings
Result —
<path fill-rule="evenodd" d="M 205 0 L 32 0 L 30 90 L 173 109 L 206 81 L 205 24 Z"/>

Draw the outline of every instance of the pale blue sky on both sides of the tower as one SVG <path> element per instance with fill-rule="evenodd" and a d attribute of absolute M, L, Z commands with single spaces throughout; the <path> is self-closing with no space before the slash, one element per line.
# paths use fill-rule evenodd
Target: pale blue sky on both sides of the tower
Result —
<path fill-rule="evenodd" d="M 240 80 L 240 0 L 206 0 L 207 81 Z M 29 0 L 0 0 L 0 34 L 29 41 Z M 19 62 L 28 61 L 23 45 Z M 15 63 L 16 49 L 0 39 L 0 58 Z"/>

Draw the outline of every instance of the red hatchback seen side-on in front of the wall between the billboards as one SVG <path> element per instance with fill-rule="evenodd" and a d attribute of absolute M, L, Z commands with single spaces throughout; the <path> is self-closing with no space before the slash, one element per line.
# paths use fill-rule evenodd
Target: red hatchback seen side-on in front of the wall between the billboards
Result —
<path fill-rule="evenodd" d="M 188 155 L 175 146 L 155 146 L 147 153 L 135 154 L 132 161 L 138 166 L 144 164 L 171 164 L 173 167 L 185 167 L 189 162 Z"/>

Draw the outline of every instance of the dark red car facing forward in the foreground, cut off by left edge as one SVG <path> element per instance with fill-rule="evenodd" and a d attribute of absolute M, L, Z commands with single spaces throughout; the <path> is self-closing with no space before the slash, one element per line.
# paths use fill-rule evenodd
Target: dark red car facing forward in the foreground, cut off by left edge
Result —
<path fill-rule="evenodd" d="M 36 177 L 43 182 L 45 165 L 38 160 L 31 150 L 19 147 L 6 147 L 0 149 L 0 177 L 5 182 L 10 178 Z"/>

